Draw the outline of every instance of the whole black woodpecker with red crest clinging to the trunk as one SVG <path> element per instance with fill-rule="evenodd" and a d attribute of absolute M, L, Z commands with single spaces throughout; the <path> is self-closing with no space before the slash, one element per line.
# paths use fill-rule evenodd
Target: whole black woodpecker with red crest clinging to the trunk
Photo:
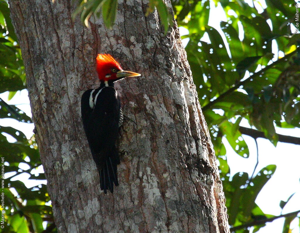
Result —
<path fill-rule="evenodd" d="M 100 87 L 89 89 L 81 97 L 81 118 L 91 154 L 100 176 L 100 188 L 113 193 L 119 185 L 117 165 L 120 164 L 115 143 L 119 127 L 123 123 L 121 102 L 114 82 L 140 74 L 125 71 L 109 54 L 98 54 L 96 70 Z"/>

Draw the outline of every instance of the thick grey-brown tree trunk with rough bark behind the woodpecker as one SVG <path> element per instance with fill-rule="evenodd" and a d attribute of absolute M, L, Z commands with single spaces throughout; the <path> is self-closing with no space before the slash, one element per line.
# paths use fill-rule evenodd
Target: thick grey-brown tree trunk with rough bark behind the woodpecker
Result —
<path fill-rule="evenodd" d="M 94 16 L 90 28 L 73 22 L 69 0 L 9 2 L 58 232 L 229 232 L 176 22 L 165 36 L 156 11 L 145 17 L 147 3 L 120 0 L 110 30 Z M 82 93 L 99 85 L 98 53 L 142 74 L 115 85 L 137 125 L 125 121 L 120 130 L 113 195 L 100 191 L 80 118 Z"/>

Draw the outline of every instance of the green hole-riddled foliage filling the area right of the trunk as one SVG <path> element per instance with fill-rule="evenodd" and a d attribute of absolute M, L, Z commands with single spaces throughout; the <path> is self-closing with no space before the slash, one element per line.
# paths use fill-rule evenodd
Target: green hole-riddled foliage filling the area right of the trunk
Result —
<path fill-rule="evenodd" d="M 261 1 L 253 2 L 259 6 Z M 187 59 L 219 158 L 229 224 L 235 227 L 274 217 L 264 214 L 254 201 L 275 167 L 267 166 L 264 173 L 258 173 L 260 177 L 239 173 L 230 180 L 222 138 L 238 155 L 247 158 L 248 146 L 239 131 L 242 119 L 264 132 L 274 146 L 278 141 L 275 125 L 300 127 L 300 34 L 291 33 L 296 13 L 293 0 L 266 0 L 267 7 L 258 7 L 260 11 L 241 0 L 214 0 L 227 17 L 226 22 L 220 22 L 219 31 L 208 26 L 210 3 L 174 1 L 173 10 L 178 25 L 189 31 L 183 37 L 189 38 Z M 275 54 L 272 43 L 283 58 Z M 295 217 L 286 217 L 283 232 L 289 230 Z M 255 226 L 254 232 L 262 226 Z"/>

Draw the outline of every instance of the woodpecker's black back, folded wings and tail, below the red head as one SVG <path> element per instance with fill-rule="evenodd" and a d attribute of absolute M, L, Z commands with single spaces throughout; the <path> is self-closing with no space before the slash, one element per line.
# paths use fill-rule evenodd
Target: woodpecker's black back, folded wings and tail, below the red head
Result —
<path fill-rule="evenodd" d="M 118 185 L 119 155 L 115 147 L 120 118 L 120 100 L 113 87 L 85 91 L 81 98 L 81 117 L 85 135 L 100 175 L 100 187 L 113 193 Z"/>

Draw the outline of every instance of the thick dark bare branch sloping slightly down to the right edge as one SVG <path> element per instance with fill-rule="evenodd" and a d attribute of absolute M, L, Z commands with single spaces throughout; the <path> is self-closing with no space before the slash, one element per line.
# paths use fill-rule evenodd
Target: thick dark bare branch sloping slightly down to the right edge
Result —
<path fill-rule="evenodd" d="M 263 132 L 258 131 L 256 129 L 251 129 L 251 128 L 246 128 L 246 127 L 240 126 L 238 130 L 241 132 L 241 134 L 248 135 L 250 137 L 253 137 L 254 139 L 256 139 L 258 137 L 266 138 L 265 134 Z M 278 134 L 278 141 L 300 145 L 300 138 L 299 137 L 293 137 L 293 136 Z"/>

